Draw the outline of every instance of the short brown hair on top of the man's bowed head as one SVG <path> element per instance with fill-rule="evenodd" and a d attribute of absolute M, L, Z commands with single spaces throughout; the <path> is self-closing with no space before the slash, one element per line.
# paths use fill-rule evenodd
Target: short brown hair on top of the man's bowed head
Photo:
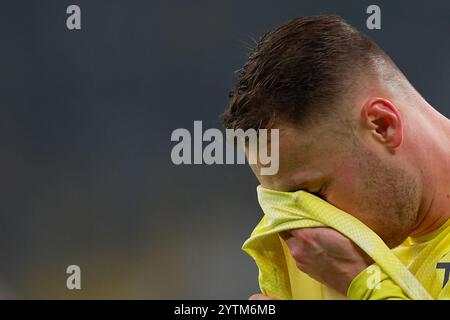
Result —
<path fill-rule="evenodd" d="M 355 72 L 380 58 L 371 39 L 333 15 L 293 19 L 263 35 L 241 69 L 223 115 L 226 128 L 270 128 L 278 120 L 306 124 L 337 112 Z M 333 100 L 331 100 L 333 99 Z M 329 103 L 332 102 L 332 103 Z"/>

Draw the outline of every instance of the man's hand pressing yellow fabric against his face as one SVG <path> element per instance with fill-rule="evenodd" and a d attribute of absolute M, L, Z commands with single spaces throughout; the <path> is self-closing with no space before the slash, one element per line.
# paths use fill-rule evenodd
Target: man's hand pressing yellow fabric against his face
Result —
<path fill-rule="evenodd" d="M 344 295 L 351 281 L 373 263 L 350 239 L 331 228 L 293 229 L 280 235 L 301 271 Z"/>

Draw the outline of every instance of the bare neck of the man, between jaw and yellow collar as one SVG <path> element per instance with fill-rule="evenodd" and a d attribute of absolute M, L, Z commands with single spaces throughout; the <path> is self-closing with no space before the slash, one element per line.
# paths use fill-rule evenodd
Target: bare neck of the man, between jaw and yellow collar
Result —
<path fill-rule="evenodd" d="M 450 120 L 426 104 L 415 143 L 422 201 L 410 236 L 432 232 L 450 219 Z M 413 142 L 414 143 L 414 142 Z"/>

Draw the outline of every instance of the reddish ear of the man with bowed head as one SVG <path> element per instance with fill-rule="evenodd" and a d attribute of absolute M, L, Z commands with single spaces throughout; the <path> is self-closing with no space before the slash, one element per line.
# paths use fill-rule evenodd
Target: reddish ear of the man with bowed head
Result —
<path fill-rule="evenodd" d="M 397 108 L 386 99 L 372 98 L 361 110 L 363 125 L 379 142 L 395 149 L 403 141 L 403 121 Z"/>

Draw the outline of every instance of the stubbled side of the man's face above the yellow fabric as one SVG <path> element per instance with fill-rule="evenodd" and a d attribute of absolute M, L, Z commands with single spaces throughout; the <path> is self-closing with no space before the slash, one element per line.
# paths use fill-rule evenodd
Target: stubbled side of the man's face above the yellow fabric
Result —
<path fill-rule="evenodd" d="M 358 218 L 389 247 L 408 237 L 420 206 L 418 184 L 370 135 L 356 139 L 329 127 L 302 132 L 283 126 L 279 145 L 278 173 L 257 175 L 263 187 L 322 190 L 324 200 Z"/>

